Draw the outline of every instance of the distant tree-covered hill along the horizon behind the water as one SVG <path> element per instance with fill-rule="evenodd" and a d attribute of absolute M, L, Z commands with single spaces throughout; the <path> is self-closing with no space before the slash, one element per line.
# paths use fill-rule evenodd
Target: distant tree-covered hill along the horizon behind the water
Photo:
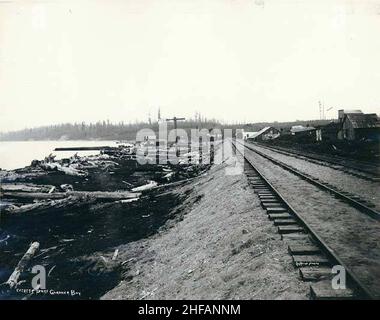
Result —
<path fill-rule="evenodd" d="M 323 125 L 331 120 L 300 120 L 294 122 L 260 122 L 248 124 L 221 124 L 217 120 L 186 120 L 178 121 L 178 128 L 188 129 L 211 129 L 231 128 L 244 129 L 245 131 L 259 131 L 266 126 L 286 128 L 292 125 Z M 25 140 L 134 140 L 136 133 L 144 128 L 158 132 L 158 124 L 139 123 L 110 123 L 108 121 L 97 123 L 74 123 L 43 126 L 31 129 L 0 133 L 0 141 L 25 141 Z M 173 129 L 173 123 L 168 123 L 168 129 Z"/>

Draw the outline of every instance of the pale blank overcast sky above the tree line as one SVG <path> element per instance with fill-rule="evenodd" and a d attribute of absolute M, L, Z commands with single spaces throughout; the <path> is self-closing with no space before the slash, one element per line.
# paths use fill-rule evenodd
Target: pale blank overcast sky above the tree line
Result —
<path fill-rule="evenodd" d="M 0 131 L 380 113 L 380 1 L 0 1 Z"/>

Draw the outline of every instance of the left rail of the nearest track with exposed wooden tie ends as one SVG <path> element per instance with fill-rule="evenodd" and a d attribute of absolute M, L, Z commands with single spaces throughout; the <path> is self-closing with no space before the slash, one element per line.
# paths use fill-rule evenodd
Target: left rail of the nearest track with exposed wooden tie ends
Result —
<path fill-rule="evenodd" d="M 288 243 L 288 251 L 300 277 L 310 283 L 312 299 L 378 299 L 355 275 L 317 232 L 284 199 L 265 178 L 257 166 L 232 142 L 236 155 L 242 157 L 249 184 L 260 199 L 268 218 L 277 227 L 281 239 Z M 247 146 L 241 144 L 245 148 Z M 342 266 L 346 272 L 346 288 L 332 288 L 332 267 Z"/>

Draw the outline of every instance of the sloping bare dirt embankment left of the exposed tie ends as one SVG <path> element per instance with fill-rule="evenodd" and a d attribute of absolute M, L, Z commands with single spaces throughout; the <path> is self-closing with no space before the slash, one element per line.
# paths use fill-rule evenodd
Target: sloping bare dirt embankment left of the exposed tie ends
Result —
<path fill-rule="evenodd" d="M 285 244 L 228 159 L 191 184 L 151 238 L 119 247 L 123 279 L 103 299 L 307 299 Z"/>

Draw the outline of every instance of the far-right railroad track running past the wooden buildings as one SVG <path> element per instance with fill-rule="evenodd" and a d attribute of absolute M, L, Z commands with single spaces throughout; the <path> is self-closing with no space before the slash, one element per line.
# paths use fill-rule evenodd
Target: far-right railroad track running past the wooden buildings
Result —
<path fill-rule="evenodd" d="M 263 144 L 257 145 L 259 145 L 262 148 L 278 152 L 287 156 L 295 157 L 319 165 L 324 165 L 361 179 L 365 179 L 372 182 L 380 182 L 379 168 L 374 164 L 370 164 L 367 162 L 357 162 L 357 164 L 352 164 L 347 159 L 336 159 L 327 156 L 304 153 L 296 150 L 285 149 L 278 146 L 274 147 Z"/>

